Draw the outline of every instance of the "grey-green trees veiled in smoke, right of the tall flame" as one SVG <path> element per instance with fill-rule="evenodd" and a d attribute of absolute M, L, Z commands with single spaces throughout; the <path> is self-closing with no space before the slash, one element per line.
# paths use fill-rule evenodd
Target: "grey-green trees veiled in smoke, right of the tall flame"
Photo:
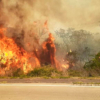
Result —
<path fill-rule="evenodd" d="M 69 61 L 74 69 L 84 67 L 100 51 L 100 33 L 75 29 L 60 29 L 55 33 L 57 58 Z"/>

